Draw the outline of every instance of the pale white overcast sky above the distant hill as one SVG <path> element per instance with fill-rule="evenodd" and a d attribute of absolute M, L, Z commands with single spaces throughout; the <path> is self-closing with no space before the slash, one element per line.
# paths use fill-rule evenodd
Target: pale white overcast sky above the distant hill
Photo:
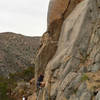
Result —
<path fill-rule="evenodd" d="M 0 0 L 0 32 L 41 36 L 46 31 L 49 0 Z"/>

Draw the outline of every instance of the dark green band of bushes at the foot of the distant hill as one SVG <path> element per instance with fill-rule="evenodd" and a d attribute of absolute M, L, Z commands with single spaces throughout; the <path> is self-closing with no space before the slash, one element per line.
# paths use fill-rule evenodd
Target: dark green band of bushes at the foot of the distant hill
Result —
<path fill-rule="evenodd" d="M 34 67 L 29 67 L 22 72 L 10 73 L 9 79 L 0 77 L 0 98 L 2 100 L 12 100 L 7 96 L 10 90 L 13 90 L 17 86 L 17 82 L 20 80 L 29 81 L 34 77 Z"/>

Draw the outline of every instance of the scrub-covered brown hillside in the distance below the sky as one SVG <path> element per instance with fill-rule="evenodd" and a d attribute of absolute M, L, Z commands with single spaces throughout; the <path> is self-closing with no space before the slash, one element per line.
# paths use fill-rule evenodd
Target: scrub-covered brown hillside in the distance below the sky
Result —
<path fill-rule="evenodd" d="M 11 32 L 0 33 L 0 75 L 19 72 L 31 65 L 40 37 L 27 37 Z"/>

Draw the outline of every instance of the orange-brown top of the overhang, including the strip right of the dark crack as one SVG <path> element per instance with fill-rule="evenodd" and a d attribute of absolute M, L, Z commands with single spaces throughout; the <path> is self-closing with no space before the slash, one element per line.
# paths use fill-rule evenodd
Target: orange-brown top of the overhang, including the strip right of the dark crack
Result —
<path fill-rule="evenodd" d="M 68 14 L 82 0 L 50 0 L 48 10 L 48 25 L 54 21 L 64 17 L 64 13 Z"/>

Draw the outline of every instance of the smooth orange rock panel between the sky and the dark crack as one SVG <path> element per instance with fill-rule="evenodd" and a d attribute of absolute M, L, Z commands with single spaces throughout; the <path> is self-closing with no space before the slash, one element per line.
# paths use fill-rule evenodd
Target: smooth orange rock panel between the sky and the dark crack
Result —
<path fill-rule="evenodd" d="M 69 0 L 50 0 L 48 10 L 48 24 L 60 19 L 68 6 Z"/>

